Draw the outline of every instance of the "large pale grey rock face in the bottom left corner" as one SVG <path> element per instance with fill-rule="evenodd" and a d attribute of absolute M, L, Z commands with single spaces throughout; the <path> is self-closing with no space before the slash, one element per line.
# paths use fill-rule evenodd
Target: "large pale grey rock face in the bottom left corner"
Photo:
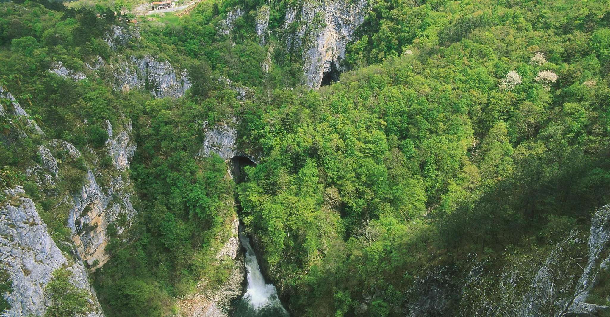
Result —
<path fill-rule="evenodd" d="M 21 187 L 7 190 L 9 202 L 0 206 L 0 268 L 8 273 L 12 291 L 4 294 L 11 305 L 2 316 L 41 316 L 52 305 L 45 287 L 58 268 L 73 272 L 71 283 L 90 294 L 89 317 L 102 317 L 101 307 L 81 263 L 68 260 L 47 232 L 34 202 L 21 197 Z"/>

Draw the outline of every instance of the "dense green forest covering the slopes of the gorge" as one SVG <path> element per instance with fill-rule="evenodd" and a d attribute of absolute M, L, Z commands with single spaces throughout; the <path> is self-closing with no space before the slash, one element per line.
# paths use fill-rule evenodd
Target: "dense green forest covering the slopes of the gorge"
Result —
<path fill-rule="evenodd" d="M 498 276 L 518 268 L 511 296 L 523 297 L 539 269 L 531 259 L 544 262 L 571 232 L 584 236 L 574 248 L 586 254 L 592 216 L 610 203 L 610 2 L 369 1 L 340 80 L 320 88 L 305 84 L 307 52 L 287 40 L 298 22 L 284 27 L 290 8 L 310 2 L 203 0 L 188 14 L 148 20 L 121 12 L 119 1 L 0 3 L 0 87 L 44 132 L 4 115 L 12 104 L 2 99 L 0 187 L 23 186 L 69 253 L 63 196 L 82 188 L 88 169 L 131 180 L 137 216 L 123 233 L 110 227 L 109 260 L 90 268 L 109 317 L 187 316 L 177 303 L 201 291 L 201 280 L 213 290 L 229 279 L 233 263 L 213 257 L 235 217 L 291 315 L 415 316 L 404 307 L 422 276 L 436 268 L 459 276 L 474 258 L 488 274 L 445 312 L 529 316 L 508 307 Z M 236 6 L 245 13 L 219 32 Z M 263 6 L 270 32 L 260 43 Z M 112 48 L 104 40 L 112 26 L 140 36 Z M 188 71 L 184 96 L 116 89 L 113 68 L 86 66 L 146 55 Z M 49 72 L 57 62 L 88 78 Z M 105 152 L 106 121 L 133 126 L 126 171 L 112 169 Z M 256 158 L 243 182 L 227 176 L 231 162 L 219 155 L 198 157 L 213 123 L 234 124 L 242 151 Z M 61 177 L 49 194 L 26 169 L 54 139 L 83 155 L 54 153 Z M 586 264 L 579 259 L 574 267 Z M 610 272 L 602 273 L 586 301 L 610 306 Z M 60 298 L 45 316 L 82 313 L 77 291 L 54 287 Z M 502 308 L 474 307 L 486 301 Z M 536 316 L 557 316 L 564 304 L 553 305 Z M 599 314 L 590 316 L 610 310 Z"/>

